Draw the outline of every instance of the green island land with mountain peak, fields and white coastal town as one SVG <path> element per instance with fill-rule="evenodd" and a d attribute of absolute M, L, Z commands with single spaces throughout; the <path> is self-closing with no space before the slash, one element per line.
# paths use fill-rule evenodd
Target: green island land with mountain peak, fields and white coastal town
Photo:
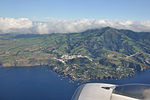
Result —
<path fill-rule="evenodd" d="M 128 77 L 150 68 L 150 32 L 105 27 L 68 34 L 1 34 L 0 64 L 51 66 L 73 80 Z"/>

